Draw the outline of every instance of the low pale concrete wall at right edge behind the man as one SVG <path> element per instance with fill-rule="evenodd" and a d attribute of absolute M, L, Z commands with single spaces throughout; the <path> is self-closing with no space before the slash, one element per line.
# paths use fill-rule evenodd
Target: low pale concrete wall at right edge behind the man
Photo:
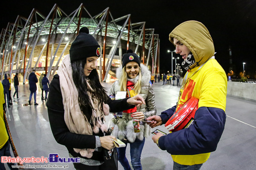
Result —
<path fill-rule="evenodd" d="M 256 84 L 245 82 L 228 82 L 227 95 L 256 102 Z"/>

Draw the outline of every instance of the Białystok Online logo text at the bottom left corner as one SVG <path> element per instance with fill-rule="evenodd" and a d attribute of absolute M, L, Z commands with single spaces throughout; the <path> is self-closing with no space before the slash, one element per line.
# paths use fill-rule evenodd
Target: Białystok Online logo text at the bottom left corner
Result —
<path fill-rule="evenodd" d="M 48 161 L 49 159 L 49 161 Z M 57 153 L 50 153 L 49 157 L 1 157 L 1 163 L 80 163 L 80 157 L 60 157 Z"/>

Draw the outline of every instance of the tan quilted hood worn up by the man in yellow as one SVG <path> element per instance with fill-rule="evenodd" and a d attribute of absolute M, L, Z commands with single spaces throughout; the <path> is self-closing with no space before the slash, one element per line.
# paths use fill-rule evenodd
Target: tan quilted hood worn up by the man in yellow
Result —
<path fill-rule="evenodd" d="M 172 44 L 173 38 L 186 45 L 195 57 L 195 64 L 190 66 L 202 65 L 210 57 L 214 56 L 214 44 L 208 29 L 198 21 L 186 21 L 176 26 L 169 34 L 169 40 Z"/>

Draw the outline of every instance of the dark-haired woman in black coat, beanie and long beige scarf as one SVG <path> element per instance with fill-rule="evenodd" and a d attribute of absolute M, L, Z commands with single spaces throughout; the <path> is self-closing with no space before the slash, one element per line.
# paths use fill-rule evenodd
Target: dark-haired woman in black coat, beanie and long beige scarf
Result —
<path fill-rule="evenodd" d="M 80 157 L 76 170 L 105 170 L 103 148 L 115 147 L 114 136 L 104 136 L 108 127 L 105 115 L 145 103 L 140 95 L 111 100 L 101 86 L 96 60 L 100 45 L 83 27 L 71 44 L 50 84 L 47 107 L 56 141 L 67 147 L 70 157 Z"/>

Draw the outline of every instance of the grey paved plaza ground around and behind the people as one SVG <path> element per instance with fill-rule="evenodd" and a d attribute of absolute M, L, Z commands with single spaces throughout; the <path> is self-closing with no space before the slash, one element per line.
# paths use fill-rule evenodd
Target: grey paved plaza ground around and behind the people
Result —
<path fill-rule="evenodd" d="M 109 89 L 111 83 L 103 83 L 103 86 Z M 162 82 L 154 83 L 153 87 L 157 114 L 175 105 L 179 87 L 162 85 Z M 65 146 L 59 145 L 52 135 L 45 101 L 40 100 L 40 88 L 37 91 L 39 105 L 24 106 L 29 98 L 28 88 L 28 84 L 20 85 L 20 100 L 13 100 L 13 106 L 7 111 L 7 120 L 19 156 L 48 157 L 49 153 L 58 153 L 60 157 L 68 157 Z M 14 87 L 12 95 L 13 93 Z M 227 97 L 226 114 L 227 121 L 221 141 L 217 150 L 211 153 L 209 160 L 203 164 L 202 170 L 256 170 L 256 103 Z M 107 121 L 109 119 L 111 116 L 108 116 Z M 164 126 L 157 128 L 167 132 Z M 128 149 L 129 146 L 127 157 L 130 161 Z M 171 156 L 160 150 L 151 138 L 146 139 L 141 164 L 144 170 L 172 170 L 173 166 Z M 68 165 L 69 170 L 74 170 L 72 164 L 58 165 Z M 121 164 L 119 169 L 123 170 Z"/>

